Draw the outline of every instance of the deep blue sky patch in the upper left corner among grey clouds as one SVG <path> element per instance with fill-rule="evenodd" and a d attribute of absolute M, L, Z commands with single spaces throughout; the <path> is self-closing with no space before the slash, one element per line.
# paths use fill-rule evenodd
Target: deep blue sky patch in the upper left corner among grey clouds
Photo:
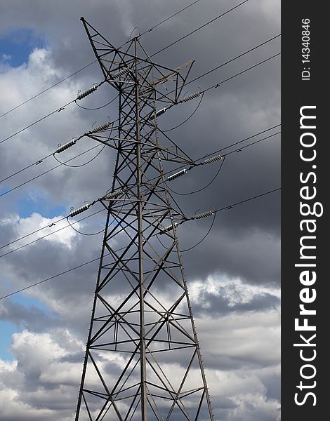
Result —
<path fill-rule="evenodd" d="M 45 39 L 35 34 L 33 29 L 18 29 L 0 36 L 0 62 L 11 67 L 27 63 L 34 48 L 44 48 Z"/>

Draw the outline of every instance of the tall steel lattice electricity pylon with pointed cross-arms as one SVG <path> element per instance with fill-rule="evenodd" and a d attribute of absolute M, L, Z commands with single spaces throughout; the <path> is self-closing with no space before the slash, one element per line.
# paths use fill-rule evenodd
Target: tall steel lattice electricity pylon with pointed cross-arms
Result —
<path fill-rule="evenodd" d="M 138 37 L 114 48 L 81 20 L 119 116 L 88 134 L 116 160 L 100 199 L 107 222 L 75 421 L 213 420 L 176 236 L 185 216 L 171 206 L 163 170 L 194 161 L 157 128 L 158 116 L 194 96 L 180 100 L 193 60 L 157 65 Z"/>

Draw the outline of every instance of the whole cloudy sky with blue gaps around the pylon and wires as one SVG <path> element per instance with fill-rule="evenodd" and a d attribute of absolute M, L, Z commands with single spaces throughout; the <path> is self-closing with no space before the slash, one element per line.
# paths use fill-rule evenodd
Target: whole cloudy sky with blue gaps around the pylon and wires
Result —
<path fill-rule="evenodd" d="M 52 154 L 59 143 L 91 130 L 95 121 L 100 125 L 108 116 L 116 118 L 116 102 L 98 110 L 73 104 L 9 138 L 76 98 L 77 91 L 102 81 L 98 65 L 91 65 L 7 113 L 93 62 L 81 16 L 119 46 L 134 27 L 138 27 L 134 34 L 145 32 L 190 3 L 1 2 L 0 142 L 8 140 L 0 144 L 0 180 Z M 239 3 L 199 0 L 140 41 L 148 52 L 155 53 Z M 279 0 L 249 0 L 166 48 L 154 60 L 175 68 L 194 58 L 190 74 L 194 79 L 279 33 Z M 279 38 L 270 41 L 190 83 L 187 94 L 279 53 L 279 43 Z M 262 131 L 266 132 L 225 152 L 277 133 L 279 128 L 267 130 L 280 121 L 279 62 L 279 57 L 269 60 L 208 91 L 194 116 L 169 132 L 171 138 L 192 159 L 199 159 Z M 103 85 L 81 105 L 100 107 L 114 96 L 112 88 Z M 188 102 L 159 118 L 161 129 L 187 119 L 198 102 Z M 72 152 L 66 152 L 65 159 L 94 146 L 95 142 L 84 139 Z M 208 188 L 173 196 L 186 215 L 193 215 L 276 189 L 280 185 L 279 147 L 279 135 L 274 135 L 232 153 Z M 102 234 L 83 236 L 65 227 L 65 220 L 26 235 L 65 217 L 72 206 L 77 208 L 107 191 L 114 166 L 114 154 L 107 149 L 96 156 L 100 148 L 95 148 L 70 161 L 77 168 L 58 166 L 51 156 L 0 183 L 1 297 L 99 257 Z M 55 166 L 58 168 L 52 170 Z M 219 163 L 214 163 L 190 171 L 171 188 L 181 194 L 200 189 L 218 168 Z M 81 216 L 100 209 L 95 206 Z M 105 213 L 98 213 L 75 227 L 95 233 L 103 229 L 104 222 Z M 205 241 L 183 253 L 213 410 L 219 421 L 279 420 L 279 223 L 279 192 L 275 192 L 219 212 Z M 180 248 L 194 246 L 210 225 L 206 218 L 180 226 Z M 54 230 L 58 231 L 51 234 Z M 46 234 L 51 235 L 37 240 Z M 22 236 L 25 238 L 20 239 Z M 93 262 L 0 300 L 1 420 L 73 419 L 97 269 Z"/>

